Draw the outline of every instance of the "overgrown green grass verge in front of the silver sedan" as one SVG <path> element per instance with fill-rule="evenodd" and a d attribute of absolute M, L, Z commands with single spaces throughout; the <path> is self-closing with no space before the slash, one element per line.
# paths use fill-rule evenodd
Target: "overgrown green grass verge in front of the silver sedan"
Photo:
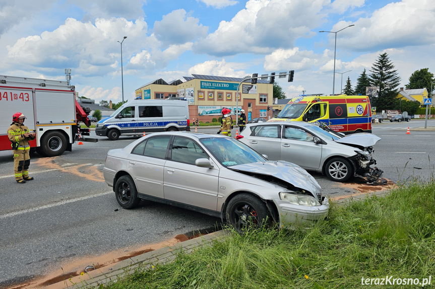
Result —
<path fill-rule="evenodd" d="M 232 231 L 212 246 L 179 252 L 171 263 L 138 268 L 100 288 L 389 288 L 395 286 L 361 285 L 361 278 L 391 275 L 432 275 L 433 284 L 434 212 L 433 178 L 415 180 L 385 198 L 332 204 L 328 219 L 313 228 Z"/>

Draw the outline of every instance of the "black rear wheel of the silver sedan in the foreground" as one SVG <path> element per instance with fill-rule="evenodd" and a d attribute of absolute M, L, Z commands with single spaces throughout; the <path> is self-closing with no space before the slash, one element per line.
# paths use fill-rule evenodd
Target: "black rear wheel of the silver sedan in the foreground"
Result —
<path fill-rule="evenodd" d="M 115 197 L 118 204 L 124 209 L 134 209 L 139 205 L 138 190 L 135 182 L 129 175 L 123 175 L 116 181 Z"/>

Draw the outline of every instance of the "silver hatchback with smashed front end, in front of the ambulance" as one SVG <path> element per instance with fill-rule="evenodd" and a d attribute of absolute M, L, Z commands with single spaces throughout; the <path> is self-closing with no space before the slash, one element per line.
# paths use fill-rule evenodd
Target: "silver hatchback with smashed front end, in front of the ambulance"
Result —
<path fill-rule="evenodd" d="M 323 124 L 271 122 L 248 124 L 236 138 L 269 160 L 289 161 L 333 181 L 358 176 L 367 184 L 386 183 L 380 178 L 383 171 L 373 166 L 373 146 L 381 139 L 374 134 L 344 136 Z"/>

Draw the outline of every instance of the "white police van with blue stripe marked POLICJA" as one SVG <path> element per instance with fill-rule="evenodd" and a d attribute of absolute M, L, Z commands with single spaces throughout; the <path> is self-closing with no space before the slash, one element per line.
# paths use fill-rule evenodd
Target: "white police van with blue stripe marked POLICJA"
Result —
<path fill-rule="evenodd" d="M 169 99 L 132 100 L 95 125 L 96 135 L 110 140 L 117 140 L 121 135 L 190 130 L 188 102 Z"/>

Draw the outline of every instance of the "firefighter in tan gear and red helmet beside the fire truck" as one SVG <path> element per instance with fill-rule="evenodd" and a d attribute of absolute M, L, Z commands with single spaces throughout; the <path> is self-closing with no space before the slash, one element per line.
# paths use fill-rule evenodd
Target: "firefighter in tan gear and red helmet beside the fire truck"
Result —
<path fill-rule="evenodd" d="M 14 173 L 15 180 L 18 183 L 25 183 L 26 180 L 32 180 L 29 176 L 30 164 L 30 145 L 29 140 L 35 139 L 35 133 L 29 132 L 29 128 L 24 123 L 26 117 L 22 113 L 16 113 L 12 116 L 12 124 L 8 129 L 8 137 L 12 142 L 14 150 Z"/>

